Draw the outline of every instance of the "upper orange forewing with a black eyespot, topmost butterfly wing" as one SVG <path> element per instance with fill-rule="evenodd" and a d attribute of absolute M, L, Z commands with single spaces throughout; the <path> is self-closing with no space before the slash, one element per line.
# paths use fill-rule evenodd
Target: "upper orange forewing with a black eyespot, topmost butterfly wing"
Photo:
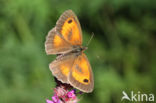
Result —
<path fill-rule="evenodd" d="M 56 23 L 56 31 L 58 31 L 70 44 L 82 44 L 80 23 L 72 10 L 67 10 L 60 16 Z"/>

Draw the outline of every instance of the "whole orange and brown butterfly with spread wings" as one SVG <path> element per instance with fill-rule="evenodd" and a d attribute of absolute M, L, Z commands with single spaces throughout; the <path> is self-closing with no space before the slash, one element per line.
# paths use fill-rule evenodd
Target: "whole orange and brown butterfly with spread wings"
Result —
<path fill-rule="evenodd" d="M 49 68 L 62 83 L 89 93 L 93 91 L 94 78 L 84 54 L 86 49 L 82 46 L 82 31 L 77 16 L 72 10 L 66 10 L 46 37 L 46 53 L 58 55 Z"/>

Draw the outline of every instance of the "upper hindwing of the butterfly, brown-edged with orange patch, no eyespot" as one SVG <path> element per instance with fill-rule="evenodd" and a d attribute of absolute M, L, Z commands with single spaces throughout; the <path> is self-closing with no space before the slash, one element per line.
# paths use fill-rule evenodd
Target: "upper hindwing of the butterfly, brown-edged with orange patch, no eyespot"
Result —
<path fill-rule="evenodd" d="M 53 28 L 46 37 L 45 50 L 47 54 L 62 54 L 72 50 L 72 45 Z"/>

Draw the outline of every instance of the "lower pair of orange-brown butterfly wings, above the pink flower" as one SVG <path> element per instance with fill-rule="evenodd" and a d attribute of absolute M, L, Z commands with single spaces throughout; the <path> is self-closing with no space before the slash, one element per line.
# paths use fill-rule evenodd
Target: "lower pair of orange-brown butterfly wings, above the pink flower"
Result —
<path fill-rule="evenodd" d="M 83 92 L 92 92 L 94 88 L 93 73 L 84 53 L 61 55 L 50 63 L 49 68 L 62 83 L 68 83 Z"/>

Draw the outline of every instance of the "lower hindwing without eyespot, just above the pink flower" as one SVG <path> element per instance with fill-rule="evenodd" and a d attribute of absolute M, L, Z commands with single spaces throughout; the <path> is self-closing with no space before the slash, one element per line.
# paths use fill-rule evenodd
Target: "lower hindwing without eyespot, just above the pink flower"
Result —
<path fill-rule="evenodd" d="M 55 61 L 50 63 L 49 68 L 52 74 L 62 83 L 68 83 L 70 69 L 74 64 L 74 55 L 64 55 L 58 57 Z"/>

